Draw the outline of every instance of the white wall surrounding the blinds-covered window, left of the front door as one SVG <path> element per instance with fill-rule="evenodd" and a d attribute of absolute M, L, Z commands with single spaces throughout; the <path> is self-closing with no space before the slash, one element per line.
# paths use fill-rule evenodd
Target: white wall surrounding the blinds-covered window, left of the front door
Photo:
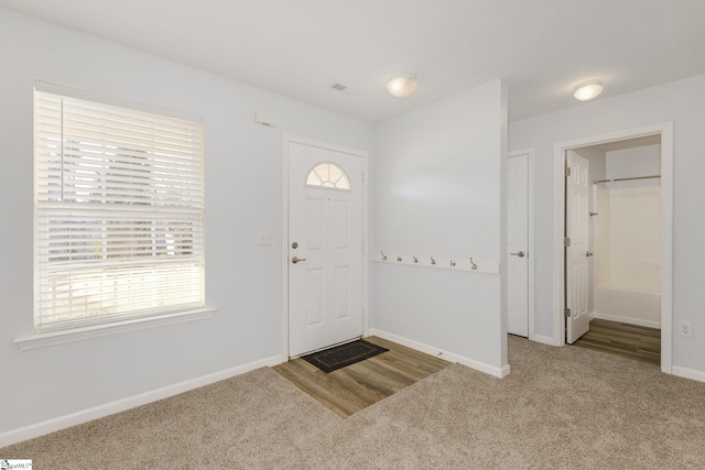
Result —
<path fill-rule="evenodd" d="M 281 134 L 370 151 L 372 127 L 2 9 L 0 57 L 0 441 L 3 431 L 280 357 Z M 205 118 L 214 318 L 31 351 L 14 345 L 32 334 L 36 78 Z M 254 124 L 256 109 L 274 114 L 278 127 Z M 272 245 L 257 245 L 261 229 L 272 230 Z"/>

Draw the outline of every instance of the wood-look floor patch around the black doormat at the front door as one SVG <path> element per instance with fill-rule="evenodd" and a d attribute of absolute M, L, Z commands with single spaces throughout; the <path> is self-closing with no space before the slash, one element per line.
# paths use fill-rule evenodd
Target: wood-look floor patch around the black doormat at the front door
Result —
<path fill-rule="evenodd" d="M 389 349 L 373 358 L 325 373 L 303 359 L 272 368 L 344 418 L 451 365 L 433 356 L 377 337 L 366 341 Z"/>

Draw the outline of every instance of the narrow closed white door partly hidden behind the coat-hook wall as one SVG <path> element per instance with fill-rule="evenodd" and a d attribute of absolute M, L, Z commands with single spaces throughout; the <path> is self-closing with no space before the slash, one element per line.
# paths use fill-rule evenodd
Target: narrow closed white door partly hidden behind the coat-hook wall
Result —
<path fill-rule="evenodd" d="M 507 160 L 507 331 L 529 336 L 529 155 Z"/>

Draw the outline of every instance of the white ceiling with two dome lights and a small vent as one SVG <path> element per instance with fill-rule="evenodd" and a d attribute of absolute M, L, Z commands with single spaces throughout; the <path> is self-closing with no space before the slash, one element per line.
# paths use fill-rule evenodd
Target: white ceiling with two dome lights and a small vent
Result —
<path fill-rule="evenodd" d="M 0 7 L 378 122 L 503 77 L 516 120 L 705 74 L 705 0 L 0 0 Z M 419 77 L 409 98 L 387 79 Z M 330 88 L 359 90 L 352 97 Z"/>

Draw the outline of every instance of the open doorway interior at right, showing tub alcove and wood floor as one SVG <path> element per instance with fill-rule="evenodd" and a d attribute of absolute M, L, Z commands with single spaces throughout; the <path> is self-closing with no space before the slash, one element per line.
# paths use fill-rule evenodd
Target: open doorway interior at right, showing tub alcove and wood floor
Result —
<path fill-rule="evenodd" d="M 576 204 L 566 182 L 565 341 L 660 363 L 661 135 L 570 150 L 566 163 L 586 171 L 586 198 Z M 585 297 L 574 310 L 578 289 Z"/>

